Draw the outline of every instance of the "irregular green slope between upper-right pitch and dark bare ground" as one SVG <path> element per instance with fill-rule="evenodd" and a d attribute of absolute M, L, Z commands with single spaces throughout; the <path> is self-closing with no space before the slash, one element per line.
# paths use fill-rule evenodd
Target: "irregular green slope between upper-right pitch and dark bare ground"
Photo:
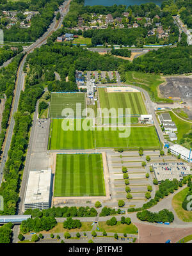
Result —
<path fill-rule="evenodd" d="M 160 75 L 128 71 L 125 73 L 125 79 L 125 83 L 145 89 L 149 93 L 150 99 L 154 102 L 172 102 L 170 99 L 158 97 L 159 84 L 165 82 Z"/>

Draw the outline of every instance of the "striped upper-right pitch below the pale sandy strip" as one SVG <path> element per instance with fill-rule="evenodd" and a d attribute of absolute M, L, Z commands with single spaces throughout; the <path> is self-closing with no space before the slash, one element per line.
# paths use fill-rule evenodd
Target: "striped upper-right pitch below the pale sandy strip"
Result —
<path fill-rule="evenodd" d="M 131 108 L 131 115 L 147 114 L 141 93 L 138 92 L 106 92 L 99 88 L 100 108 Z"/>

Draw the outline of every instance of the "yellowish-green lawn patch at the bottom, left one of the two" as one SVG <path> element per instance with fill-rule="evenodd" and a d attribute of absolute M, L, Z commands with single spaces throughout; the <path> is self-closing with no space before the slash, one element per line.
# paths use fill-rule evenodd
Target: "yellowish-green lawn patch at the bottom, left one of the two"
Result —
<path fill-rule="evenodd" d="M 91 231 L 92 230 L 92 222 L 81 222 L 82 226 L 81 228 L 72 228 L 67 229 L 63 228 L 63 222 L 59 222 L 54 228 L 52 228 L 49 231 L 41 231 L 38 234 L 47 234 L 47 233 L 62 233 L 62 232 L 81 232 L 81 231 Z"/>

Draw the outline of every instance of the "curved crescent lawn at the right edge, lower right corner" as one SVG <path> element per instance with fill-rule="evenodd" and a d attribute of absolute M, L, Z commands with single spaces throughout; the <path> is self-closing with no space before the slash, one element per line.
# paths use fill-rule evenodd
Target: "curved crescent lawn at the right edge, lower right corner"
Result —
<path fill-rule="evenodd" d="M 189 191 L 189 188 L 184 188 L 182 191 L 177 193 L 175 196 L 173 196 L 172 205 L 173 209 L 177 213 L 177 216 L 182 221 L 191 222 L 192 221 L 192 212 L 186 211 L 182 208 L 182 202 L 184 198 L 186 197 L 187 193 Z"/>

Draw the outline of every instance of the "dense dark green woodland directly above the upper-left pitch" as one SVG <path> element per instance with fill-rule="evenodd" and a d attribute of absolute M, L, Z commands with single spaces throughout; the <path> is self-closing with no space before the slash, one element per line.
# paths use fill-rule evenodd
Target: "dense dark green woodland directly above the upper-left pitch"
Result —
<path fill-rule="evenodd" d="M 117 70 L 118 65 L 125 61 L 113 56 L 101 56 L 98 52 L 72 46 L 71 43 L 49 42 L 49 45 L 29 54 L 26 61 L 30 68 L 26 83 L 31 86 L 44 83 L 49 92 L 76 92 L 76 70 Z M 54 71 L 60 74 L 61 81 L 55 79 Z"/>

